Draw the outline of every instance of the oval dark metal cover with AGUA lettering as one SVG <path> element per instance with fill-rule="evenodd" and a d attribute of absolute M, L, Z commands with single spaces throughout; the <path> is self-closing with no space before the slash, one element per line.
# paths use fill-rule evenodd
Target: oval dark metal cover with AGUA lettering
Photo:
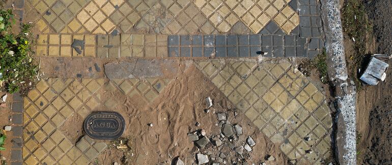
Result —
<path fill-rule="evenodd" d="M 87 116 L 83 128 L 93 139 L 112 140 L 124 133 L 125 121 L 117 112 L 96 112 Z"/>

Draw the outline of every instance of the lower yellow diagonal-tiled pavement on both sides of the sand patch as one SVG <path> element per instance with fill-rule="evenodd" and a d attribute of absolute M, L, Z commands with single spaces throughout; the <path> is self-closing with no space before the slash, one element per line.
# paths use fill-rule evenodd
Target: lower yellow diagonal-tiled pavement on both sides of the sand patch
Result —
<path fill-rule="evenodd" d="M 290 63 L 258 65 L 255 61 L 207 60 L 195 61 L 195 65 L 260 131 L 281 146 L 292 162 L 318 164 L 329 156 L 331 117 L 325 97 Z M 61 131 L 70 115 L 84 118 L 97 107 L 110 110 L 121 104 L 113 98 L 103 99 L 107 91 L 129 99 L 142 97 L 147 105 L 171 81 L 41 80 L 24 98 L 24 163 L 91 162 L 105 145 L 87 137 L 72 144 Z"/>

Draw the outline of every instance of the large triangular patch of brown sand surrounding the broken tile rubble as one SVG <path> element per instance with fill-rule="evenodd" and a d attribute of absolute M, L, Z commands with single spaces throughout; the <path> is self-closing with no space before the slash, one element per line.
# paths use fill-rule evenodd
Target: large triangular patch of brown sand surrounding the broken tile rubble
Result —
<path fill-rule="evenodd" d="M 189 132 L 197 129 L 204 129 L 207 137 L 219 135 L 217 112 L 226 113 L 232 124 L 238 123 L 243 127 L 244 135 L 238 138 L 236 145 L 242 145 L 246 135 L 255 140 L 256 146 L 248 155 L 248 162 L 263 162 L 264 156 L 269 154 L 275 157 L 275 161 L 269 164 L 286 164 L 287 159 L 278 146 L 266 139 L 241 112 L 234 116 L 234 107 L 198 69 L 193 65 L 186 68 L 185 65 L 180 65 L 177 77 L 150 105 L 137 97 L 127 99 L 121 93 L 105 92 L 106 96 L 116 97 L 116 100 L 122 103 L 115 109 L 127 122 L 123 137 L 134 137 L 132 147 L 135 153 L 134 162 L 131 164 L 171 163 L 175 157 L 180 157 L 186 164 L 192 164 L 195 162 L 196 153 L 206 153 L 208 150 L 213 152 L 212 155 L 219 154 L 212 144 L 197 149 L 187 136 Z M 209 113 L 204 112 L 207 96 L 214 102 Z M 196 122 L 201 125 L 195 126 Z M 153 126 L 149 127 L 148 123 Z M 223 147 L 220 152 L 225 152 L 232 160 L 238 157 L 228 146 Z M 120 161 L 123 154 L 114 153 L 118 153 L 118 150 L 106 150 L 99 156 L 99 162 L 109 164 Z"/>

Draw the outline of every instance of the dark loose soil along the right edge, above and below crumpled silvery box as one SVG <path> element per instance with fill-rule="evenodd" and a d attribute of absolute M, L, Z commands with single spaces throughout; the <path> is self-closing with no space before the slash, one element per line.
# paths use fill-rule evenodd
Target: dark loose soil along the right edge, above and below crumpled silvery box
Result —
<path fill-rule="evenodd" d="M 367 51 L 375 54 L 392 54 L 391 1 L 365 1 L 368 16 L 374 25 L 373 40 Z M 354 53 L 353 42 L 345 39 L 346 59 Z M 391 61 L 388 62 L 392 64 Z M 377 86 L 364 86 L 357 92 L 357 153 L 358 164 L 392 164 L 392 102 L 390 89 L 392 72 L 387 71 L 385 82 Z"/>

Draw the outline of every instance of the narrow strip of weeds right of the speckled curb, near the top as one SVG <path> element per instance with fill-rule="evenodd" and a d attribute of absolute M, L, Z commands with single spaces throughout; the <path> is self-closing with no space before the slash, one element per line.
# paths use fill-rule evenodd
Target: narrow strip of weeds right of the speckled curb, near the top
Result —
<path fill-rule="evenodd" d="M 357 70 L 363 65 L 366 54 L 367 34 L 372 35 L 373 25 L 368 21 L 363 0 L 346 0 L 342 9 L 343 30 L 348 37 L 354 41 L 355 52 L 350 57 L 349 64 L 351 77 L 357 89 L 361 89 L 361 82 L 357 75 Z"/>

